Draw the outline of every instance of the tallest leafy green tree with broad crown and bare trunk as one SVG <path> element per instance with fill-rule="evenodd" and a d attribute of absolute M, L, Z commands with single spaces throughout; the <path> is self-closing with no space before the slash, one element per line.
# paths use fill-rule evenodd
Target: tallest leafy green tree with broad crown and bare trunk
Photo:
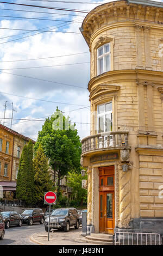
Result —
<path fill-rule="evenodd" d="M 81 143 L 71 125 L 69 117 L 65 117 L 57 108 L 51 118 L 47 118 L 39 131 L 35 150 L 42 144 L 49 165 L 54 170 L 54 180 L 57 182 L 57 198 L 60 195 L 60 180 L 67 175 L 69 170 L 80 171 Z"/>

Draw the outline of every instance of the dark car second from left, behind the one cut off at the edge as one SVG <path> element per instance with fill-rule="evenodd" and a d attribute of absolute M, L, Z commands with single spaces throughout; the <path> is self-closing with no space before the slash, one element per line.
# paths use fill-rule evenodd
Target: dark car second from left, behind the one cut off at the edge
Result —
<path fill-rule="evenodd" d="M 9 228 L 12 225 L 21 227 L 22 217 L 17 213 L 17 211 L 2 211 L 0 215 L 5 223 L 5 228 Z"/>

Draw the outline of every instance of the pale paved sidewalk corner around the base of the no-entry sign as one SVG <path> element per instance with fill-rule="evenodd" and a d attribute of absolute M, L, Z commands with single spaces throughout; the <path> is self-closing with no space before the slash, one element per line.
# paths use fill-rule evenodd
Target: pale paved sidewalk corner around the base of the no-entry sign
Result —
<path fill-rule="evenodd" d="M 38 243 L 39 245 L 95 245 L 95 243 L 86 243 L 83 242 L 82 236 L 82 228 L 79 229 L 70 228 L 69 232 L 64 232 L 61 230 L 54 230 L 50 232 L 49 242 L 48 233 L 36 233 L 30 236 L 30 240 L 32 242 Z"/>

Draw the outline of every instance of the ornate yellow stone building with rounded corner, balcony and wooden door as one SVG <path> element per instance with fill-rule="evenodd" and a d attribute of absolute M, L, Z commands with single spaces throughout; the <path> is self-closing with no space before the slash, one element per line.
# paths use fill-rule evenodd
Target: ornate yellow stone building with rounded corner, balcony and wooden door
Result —
<path fill-rule="evenodd" d="M 99 5 L 80 28 L 91 53 L 88 234 L 163 233 L 162 24 L 163 3 L 126 0 Z"/>

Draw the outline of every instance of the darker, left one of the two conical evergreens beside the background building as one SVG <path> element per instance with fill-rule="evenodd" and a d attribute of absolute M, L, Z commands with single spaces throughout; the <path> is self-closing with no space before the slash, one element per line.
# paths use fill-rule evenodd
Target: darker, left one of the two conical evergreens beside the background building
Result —
<path fill-rule="evenodd" d="M 20 158 L 16 198 L 23 200 L 27 205 L 34 204 L 34 170 L 33 170 L 33 143 L 24 145 Z"/>

